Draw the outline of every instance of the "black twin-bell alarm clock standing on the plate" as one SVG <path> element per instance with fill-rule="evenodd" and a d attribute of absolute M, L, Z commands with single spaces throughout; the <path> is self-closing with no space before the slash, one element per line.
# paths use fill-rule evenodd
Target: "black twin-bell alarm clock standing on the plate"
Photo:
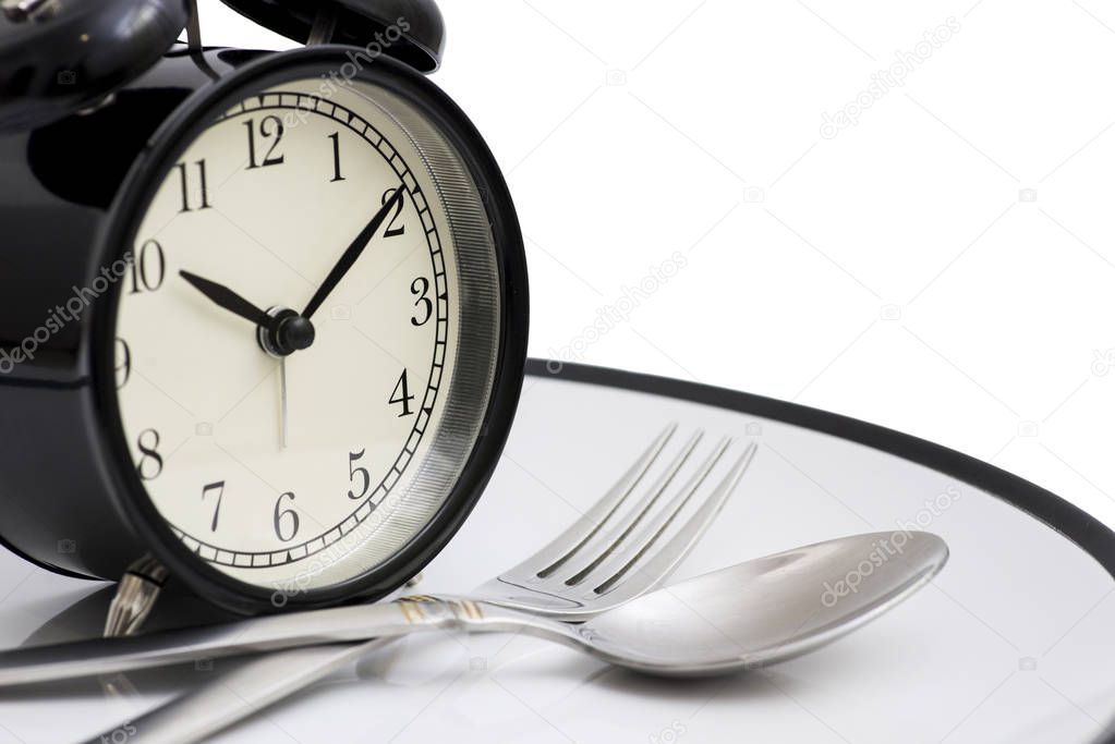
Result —
<path fill-rule="evenodd" d="M 522 236 L 425 77 L 430 0 L 225 2 L 308 46 L 204 48 L 188 0 L 0 2 L 0 540 L 244 614 L 374 599 L 498 459 Z"/>

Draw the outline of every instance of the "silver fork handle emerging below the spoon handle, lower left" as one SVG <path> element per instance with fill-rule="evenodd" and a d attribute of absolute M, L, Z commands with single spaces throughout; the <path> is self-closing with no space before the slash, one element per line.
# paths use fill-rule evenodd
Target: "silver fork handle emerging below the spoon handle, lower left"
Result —
<path fill-rule="evenodd" d="M 253 713 L 304 689 L 396 638 L 292 648 L 253 658 L 130 723 L 137 744 L 202 742 Z M 110 738 L 110 736 L 109 736 Z M 101 744 L 95 736 L 88 744 Z"/>

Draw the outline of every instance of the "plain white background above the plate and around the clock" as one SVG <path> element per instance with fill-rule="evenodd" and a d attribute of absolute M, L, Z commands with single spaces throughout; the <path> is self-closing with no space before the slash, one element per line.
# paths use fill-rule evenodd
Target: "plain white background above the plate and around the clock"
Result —
<path fill-rule="evenodd" d="M 201 2 L 206 43 L 293 46 Z M 1115 10 L 442 8 L 434 79 L 515 196 L 533 355 L 881 423 L 1115 525 Z M 872 92 L 895 63 L 903 85 Z M 823 136 L 824 115 L 864 91 L 856 124 Z M 632 307 L 675 252 L 685 267 Z M 617 305 L 624 320 L 585 333 Z"/>

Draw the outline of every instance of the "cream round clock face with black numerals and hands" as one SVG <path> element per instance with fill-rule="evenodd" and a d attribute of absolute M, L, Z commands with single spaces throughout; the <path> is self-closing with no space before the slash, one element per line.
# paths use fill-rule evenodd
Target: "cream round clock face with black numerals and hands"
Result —
<path fill-rule="evenodd" d="M 166 172 L 118 290 L 117 400 L 143 489 L 201 560 L 312 590 L 433 518 L 500 334 L 477 216 L 437 128 L 365 84 L 244 96 Z"/>

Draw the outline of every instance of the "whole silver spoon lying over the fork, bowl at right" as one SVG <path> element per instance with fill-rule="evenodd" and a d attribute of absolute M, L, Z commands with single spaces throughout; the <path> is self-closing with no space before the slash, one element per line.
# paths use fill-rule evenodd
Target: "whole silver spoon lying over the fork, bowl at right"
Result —
<path fill-rule="evenodd" d="M 483 600 L 409 597 L 132 638 L 0 654 L 0 686 L 434 629 L 523 632 L 610 664 L 669 675 L 756 668 L 808 653 L 879 617 L 948 560 L 928 532 L 876 532 L 758 558 L 650 593 L 583 624 Z"/>

